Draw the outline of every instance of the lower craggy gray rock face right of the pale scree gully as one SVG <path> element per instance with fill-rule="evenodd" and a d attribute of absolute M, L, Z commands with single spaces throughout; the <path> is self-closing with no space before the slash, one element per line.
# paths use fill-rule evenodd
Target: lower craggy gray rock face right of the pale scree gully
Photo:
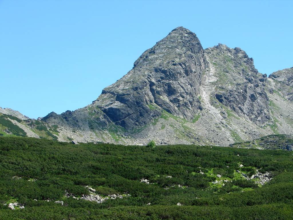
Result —
<path fill-rule="evenodd" d="M 253 59 L 240 48 L 219 44 L 205 50 L 216 69 L 215 98 L 239 116 L 247 116 L 257 124 L 270 118 L 268 96 L 264 86 L 266 75 L 255 69 Z"/>

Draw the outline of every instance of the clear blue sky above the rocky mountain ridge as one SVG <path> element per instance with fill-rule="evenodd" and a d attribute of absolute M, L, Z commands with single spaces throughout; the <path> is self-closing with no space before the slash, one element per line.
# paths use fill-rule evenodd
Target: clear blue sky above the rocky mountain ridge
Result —
<path fill-rule="evenodd" d="M 90 104 L 183 26 L 261 73 L 292 67 L 292 1 L 0 0 L 0 106 L 37 118 Z"/>

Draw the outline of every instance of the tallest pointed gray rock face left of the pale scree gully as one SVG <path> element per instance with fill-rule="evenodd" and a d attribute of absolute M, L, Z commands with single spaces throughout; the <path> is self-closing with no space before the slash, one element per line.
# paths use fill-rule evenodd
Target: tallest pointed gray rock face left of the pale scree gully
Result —
<path fill-rule="evenodd" d="M 146 50 L 94 104 L 126 130 L 149 124 L 162 109 L 190 120 L 201 109 L 198 94 L 205 67 L 200 41 L 179 27 Z"/>

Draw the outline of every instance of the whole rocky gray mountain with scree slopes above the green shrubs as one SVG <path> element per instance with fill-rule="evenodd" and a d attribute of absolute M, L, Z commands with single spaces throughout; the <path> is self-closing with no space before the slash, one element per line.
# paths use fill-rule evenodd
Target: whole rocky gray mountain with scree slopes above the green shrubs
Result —
<path fill-rule="evenodd" d="M 203 49 L 195 33 L 178 27 L 92 104 L 21 124 L 33 133 L 47 128 L 45 138 L 59 141 L 226 146 L 292 135 L 292 79 L 292 68 L 267 77 L 240 48 Z"/>

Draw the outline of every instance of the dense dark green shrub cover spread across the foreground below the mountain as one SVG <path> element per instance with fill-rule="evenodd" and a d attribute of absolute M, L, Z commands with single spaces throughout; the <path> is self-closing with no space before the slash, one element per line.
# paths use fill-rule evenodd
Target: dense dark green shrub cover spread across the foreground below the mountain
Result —
<path fill-rule="evenodd" d="M 292 165 L 292 152 L 283 150 L 74 145 L 1 136 L 0 219 L 292 219 Z M 254 169 L 273 179 L 259 187 L 235 172 Z M 217 174 L 231 181 L 212 187 Z M 102 196 L 131 196 L 100 204 L 65 197 L 65 190 L 89 194 L 86 185 Z M 14 201 L 25 209 L 2 205 Z"/>

